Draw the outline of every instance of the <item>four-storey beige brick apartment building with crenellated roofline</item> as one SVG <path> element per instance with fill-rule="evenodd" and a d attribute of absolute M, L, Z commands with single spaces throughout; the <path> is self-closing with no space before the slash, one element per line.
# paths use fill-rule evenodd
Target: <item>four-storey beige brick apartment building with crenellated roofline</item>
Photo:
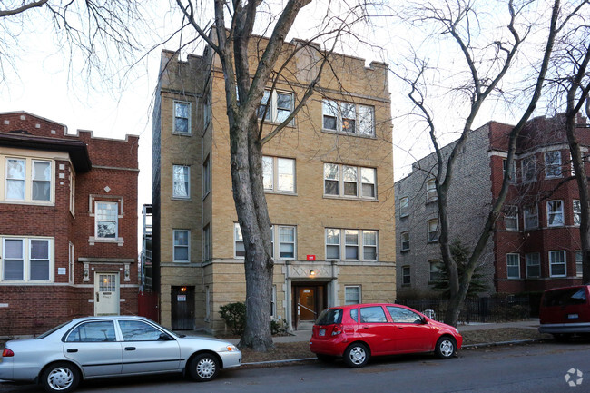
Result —
<path fill-rule="evenodd" d="M 284 58 L 298 44 L 285 44 Z M 223 74 L 211 52 L 187 61 L 162 52 L 153 113 L 153 286 L 163 325 L 219 332 L 219 308 L 245 299 L 245 279 Z M 263 134 L 299 103 L 319 54 L 300 51 L 283 73 L 289 76 L 265 95 Z M 388 67 L 342 54 L 329 59 L 307 105 L 264 146 L 275 259 L 269 307 L 290 329 L 309 326 L 329 306 L 396 297 Z"/>

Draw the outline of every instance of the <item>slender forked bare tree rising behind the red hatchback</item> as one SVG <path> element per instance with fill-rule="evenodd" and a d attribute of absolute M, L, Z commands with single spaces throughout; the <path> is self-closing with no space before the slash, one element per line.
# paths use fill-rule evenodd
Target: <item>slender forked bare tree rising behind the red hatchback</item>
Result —
<path fill-rule="evenodd" d="M 470 251 L 467 267 L 461 277 L 459 277 L 457 271 L 457 262 L 453 259 L 450 252 L 449 223 L 451 217 L 448 209 L 447 194 L 453 182 L 457 156 L 465 146 L 477 114 L 480 112 L 482 105 L 490 97 L 497 93 L 503 93 L 499 89 L 501 86 L 500 83 L 515 63 L 516 54 L 519 53 L 521 45 L 533 28 L 533 25 L 523 24 L 523 20 L 526 20 L 527 6 L 531 5 L 531 3 L 518 3 L 509 0 L 506 4 L 506 14 L 497 15 L 498 19 L 505 19 L 507 21 L 505 27 L 507 38 L 493 39 L 488 44 L 477 44 L 478 29 L 483 22 L 477 13 L 475 2 L 469 0 L 442 2 L 442 5 L 439 7 L 432 4 L 415 5 L 414 9 L 418 10 L 417 14 L 419 15 L 415 20 L 433 24 L 436 26 L 436 31 L 439 35 L 451 37 L 466 64 L 467 71 L 465 74 L 469 75 L 467 82 L 459 84 L 454 88 L 449 88 L 455 93 L 467 94 L 469 99 L 465 111 L 467 114 L 459 138 L 454 142 L 448 155 L 442 152 L 442 148 L 438 142 L 437 123 L 428 106 L 429 96 L 427 93 L 428 82 L 426 77 L 429 70 L 428 62 L 418 58 L 418 56 L 414 56 L 410 60 L 416 69 L 414 77 L 396 73 L 410 87 L 410 93 L 408 93 L 409 99 L 418 108 L 418 113 L 423 121 L 427 123 L 428 133 L 437 157 L 435 184 L 438 194 L 438 220 L 440 226 L 438 241 L 442 260 L 448 270 L 450 287 L 450 301 L 445 315 L 445 321 L 454 326 L 457 326 L 458 315 L 466 298 L 473 272 L 477 267 L 477 260 L 486 247 L 487 241 L 494 230 L 497 218 L 501 213 L 502 205 L 506 200 L 506 194 L 510 184 L 509 171 L 505 173 L 501 192 L 487 215 L 487 220 L 481 229 L 476 244 L 473 245 Z M 530 115 L 534 112 L 536 103 L 541 95 L 555 37 L 560 29 L 561 12 L 560 2 L 556 0 L 552 5 L 550 24 L 546 27 L 545 52 L 540 64 L 537 66 L 536 84 L 532 89 L 526 110 L 522 114 L 520 121 L 509 134 L 506 169 L 512 166 L 518 134 Z M 567 20 L 567 16 L 562 16 L 562 25 L 565 23 L 564 19 Z M 493 51 L 490 53 L 490 50 Z"/>

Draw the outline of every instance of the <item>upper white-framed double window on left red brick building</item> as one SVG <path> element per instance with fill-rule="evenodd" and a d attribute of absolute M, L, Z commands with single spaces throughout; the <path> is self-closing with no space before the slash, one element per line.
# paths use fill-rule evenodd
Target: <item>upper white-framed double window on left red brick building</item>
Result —
<path fill-rule="evenodd" d="M 46 203 L 54 196 L 54 163 L 32 158 L 5 158 L 5 201 Z"/>

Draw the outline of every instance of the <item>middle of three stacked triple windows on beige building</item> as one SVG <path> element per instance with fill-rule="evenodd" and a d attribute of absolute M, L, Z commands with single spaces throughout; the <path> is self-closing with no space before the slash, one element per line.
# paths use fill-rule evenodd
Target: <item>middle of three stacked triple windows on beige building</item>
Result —
<path fill-rule="evenodd" d="M 324 163 L 324 195 L 345 198 L 377 198 L 377 170 Z"/>

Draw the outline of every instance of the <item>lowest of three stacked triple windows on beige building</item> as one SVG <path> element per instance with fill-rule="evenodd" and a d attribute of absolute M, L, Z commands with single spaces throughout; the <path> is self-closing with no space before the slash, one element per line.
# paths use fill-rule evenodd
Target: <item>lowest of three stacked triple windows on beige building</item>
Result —
<path fill-rule="evenodd" d="M 378 260 L 379 233 L 326 228 L 326 260 Z"/>

